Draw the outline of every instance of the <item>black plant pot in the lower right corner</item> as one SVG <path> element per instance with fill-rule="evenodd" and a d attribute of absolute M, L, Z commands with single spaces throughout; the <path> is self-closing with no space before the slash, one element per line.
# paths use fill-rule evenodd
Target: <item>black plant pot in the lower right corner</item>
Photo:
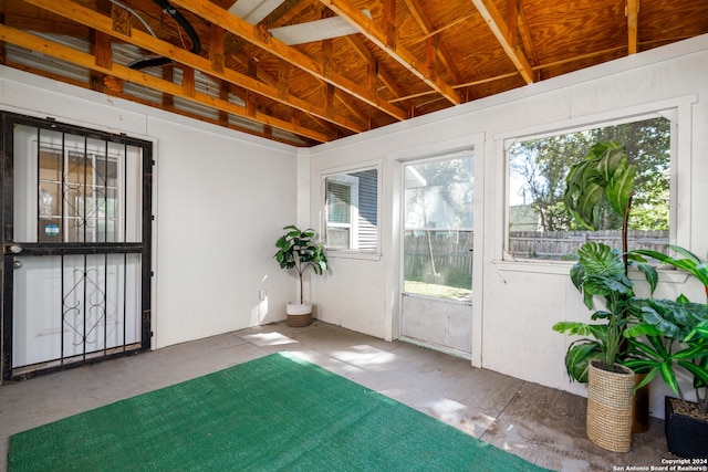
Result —
<path fill-rule="evenodd" d="M 686 459 L 708 458 L 708 421 L 674 412 L 674 398 L 664 398 L 664 432 L 668 452 Z"/>

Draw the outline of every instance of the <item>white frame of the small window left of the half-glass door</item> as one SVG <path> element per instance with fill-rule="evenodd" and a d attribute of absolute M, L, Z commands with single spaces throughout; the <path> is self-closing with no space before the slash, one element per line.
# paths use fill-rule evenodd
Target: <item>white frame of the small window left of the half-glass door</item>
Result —
<path fill-rule="evenodd" d="M 352 180 L 355 180 L 354 177 L 350 176 L 351 174 L 364 172 L 367 170 L 376 170 L 376 248 L 375 249 L 358 249 L 358 248 L 330 248 L 326 242 L 326 231 L 327 231 L 327 190 L 326 190 L 326 180 L 334 178 L 335 181 L 340 183 L 351 185 Z M 378 260 L 382 255 L 382 208 L 383 208 L 383 189 L 382 189 L 382 174 L 383 174 L 383 165 L 381 161 L 376 162 L 363 162 L 356 166 L 346 166 L 346 167 L 337 167 L 327 169 L 325 171 L 317 174 L 317 180 L 320 182 L 320 202 L 317 204 L 320 211 L 320 235 L 322 242 L 325 245 L 327 251 L 327 258 L 353 258 L 353 259 L 374 259 Z M 358 187 L 358 182 L 356 182 L 356 187 Z M 356 200 L 356 204 L 358 204 L 358 192 L 356 196 L 352 196 L 352 203 L 354 206 L 354 200 Z M 351 213 L 351 219 L 354 220 L 352 222 L 352 233 L 350 234 L 351 240 L 355 240 L 354 238 L 354 229 L 358 228 L 358 207 L 354 209 Z M 357 245 L 356 243 L 351 245 Z"/>

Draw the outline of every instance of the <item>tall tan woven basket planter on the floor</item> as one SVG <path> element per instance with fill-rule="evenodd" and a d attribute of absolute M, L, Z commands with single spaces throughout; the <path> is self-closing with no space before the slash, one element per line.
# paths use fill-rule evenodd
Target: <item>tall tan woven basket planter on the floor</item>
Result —
<path fill-rule="evenodd" d="M 627 452 L 632 444 L 634 371 L 615 365 L 622 373 L 590 364 L 587 382 L 587 438 L 613 452 Z"/>

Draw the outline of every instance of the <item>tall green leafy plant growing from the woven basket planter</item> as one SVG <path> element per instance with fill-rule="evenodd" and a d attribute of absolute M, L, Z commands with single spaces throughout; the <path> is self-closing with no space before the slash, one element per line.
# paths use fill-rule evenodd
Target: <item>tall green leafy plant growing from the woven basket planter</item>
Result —
<path fill-rule="evenodd" d="M 583 294 L 585 306 L 593 310 L 595 297 L 604 301 L 604 306 L 591 316 L 595 323 L 560 322 L 553 325 L 559 333 L 586 336 L 572 343 L 565 355 L 565 367 L 573 380 L 587 381 L 587 366 L 592 360 L 602 360 L 608 370 L 615 367 L 623 332 L 634 306 L 627 266 L 636 265 L 645 274 L 652 291 L 656 286 L 658 277 L 650 265 L 626 258 L 635 174 L 636 168 L 628 162 L 624 147 L 605 141 L 595 144 L 581 161 L 571 166 L 565 179 L 565 206 L 581 224 L 596 230 L 595 221 L 603 200 L 623 219 L 622 252 L 606 244 L 587 242 L 580 248 L 580 260 L 571 269 L 571 280 Z"/>

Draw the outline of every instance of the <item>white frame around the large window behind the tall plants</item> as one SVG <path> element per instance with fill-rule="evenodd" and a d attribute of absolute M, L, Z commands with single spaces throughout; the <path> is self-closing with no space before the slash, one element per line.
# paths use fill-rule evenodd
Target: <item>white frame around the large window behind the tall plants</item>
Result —
<path fill-rule="evenodd" d="M 521 264 L 519 268 L 528 269 L 538 268 L 550 272 L 556 272 L 560 269 L 566 271 L 573 261 L 559 260 L 541 260 L 525 259 L 513 256 L 509 251 L 509 213 L 510 213 L 510 170 L 509 170 L 509 149 L 519 140 L 539 139 L 562 134 L 589 130 L 604 126 L 613 126 L 626 123 L 638 122 L 655 117 L 665 117 L 669 120 L 670 126 L 670 174 L 669 174 L 669 243 L 684 244 L 688 235 L 686 229 L 680 227 L 684 222 L 689 221 L 690 203 L 678 204 L 678 201 L 690 201 L 690 191 L 687 185 L 681 187 L 678 176 L 685 174 L 686 166 L 690 166 L 690 129 L 691 129 L 691 104 L 697 102 L 696 95 L 688 95 L 667 99 L 653 104 L 645 104 L 625 109 L 612 111 L 598 115 L 591 115 L 581 118 L 572 118 L 563 122 L 550 123 L 546 125 L 534 126 L 532 128 L 521 129 L 499 134 L 494 136 L 497 143 L 497 153 L 499 160 L 499 169 L 502 172 L 503 186 L 498 190 L 498 209 L 503 219 L 501 221 L 500 237 L 502 243 L 498 249 L 497 262 L 507 264 Z M 684 134 L 681 130 L 686 129 Z M 541 269 L 543 268 L 543 269 Z M 553 269 L 558 268 L 558 269 Z"/>

